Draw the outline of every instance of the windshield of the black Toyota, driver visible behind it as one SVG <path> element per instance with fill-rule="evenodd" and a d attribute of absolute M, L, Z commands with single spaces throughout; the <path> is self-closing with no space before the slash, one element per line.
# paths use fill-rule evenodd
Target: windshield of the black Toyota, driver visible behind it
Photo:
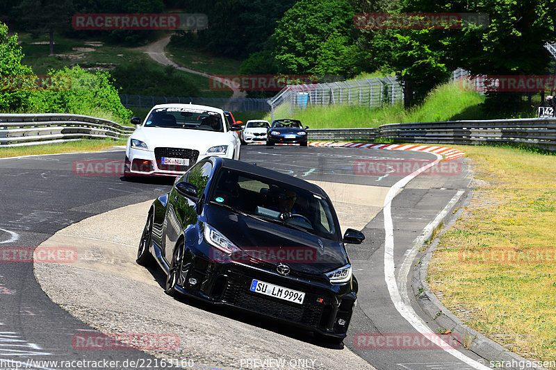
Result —
<path fill-rule="evenodd" d="M 210 199 L 247 215 L 337 239 L 332 205 L 324 197 L 300 187 L 222 169 Z"/>

